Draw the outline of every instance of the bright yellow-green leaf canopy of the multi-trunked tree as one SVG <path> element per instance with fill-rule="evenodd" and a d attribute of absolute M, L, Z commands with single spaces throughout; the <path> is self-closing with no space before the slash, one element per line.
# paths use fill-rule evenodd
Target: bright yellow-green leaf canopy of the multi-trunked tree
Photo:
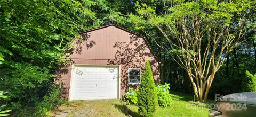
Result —
<path fill-rule="evenodd" d="M 132 21 L 138 25 L 142 23 L 151 23 L 151 24 L 163 24 L 163 25 L 170 25 L 171 31 L 178 31 L 175 30 L 175 24 L 177 21 L 182 21 L 182 18 L 185 17 L 185 21 L 188 24 L 193 23 L 194 21 L 200 19 L 203 25 L 207 25 L 207 21 L 212 21 L 208 23 L 213 23 L 212 25 L 208 26 L 229 26 L 233 23 L 233 18 L 235 14 L 243 14 L 249 13 L 248 9 L 253 8 L 255 5 L 254 1 L 233 1 L 233 2 L 225 2 L 221 1 L 217 3 L 215 0 L 211 1 L 192 1 L 192 2 L 177 2 L 172 3 L 170 5 L 165 6 L 166 11 L 169 13 L 165 14 L 157 14 L 156 7 L 148 6 L 144 3 L 137 3 L 135 6 L 137 7 L 137 15 L 131 14 Z M 205 10 L 209 10 L 205 11 Z M 161 16 L 162 15 L 162 16 Z M 239 19 L 242 20 L 242 19 Z M 207 27 L 207 26 L 206 26 Z M 140 26 L 137 26 L 140 28 Z M 182 33 L 182 32 L 175 32 L 175 33 Z"/>

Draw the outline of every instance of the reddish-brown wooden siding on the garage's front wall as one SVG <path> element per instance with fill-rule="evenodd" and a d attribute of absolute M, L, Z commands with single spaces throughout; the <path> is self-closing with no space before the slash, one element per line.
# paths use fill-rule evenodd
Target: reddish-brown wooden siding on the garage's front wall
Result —
<path fill-rule="evenodd" d="M 82 33 L 82 43 L 73 42 L 70 50 L 72 64 L 88 65 L 120 65 L 121 66 L 121 97 L 130 86 L 128 85 L 128 68 L 144 68 L 146 60 L 151 63 L 154 79 L 159 82 L 159 64 L 145 39 L 137 34 L 123 30 L 115 25 Z M 60 80 L 68 96 L 71 68 L 60 67 Z M 63 72 L 65 71 L 65 72 Z"/>

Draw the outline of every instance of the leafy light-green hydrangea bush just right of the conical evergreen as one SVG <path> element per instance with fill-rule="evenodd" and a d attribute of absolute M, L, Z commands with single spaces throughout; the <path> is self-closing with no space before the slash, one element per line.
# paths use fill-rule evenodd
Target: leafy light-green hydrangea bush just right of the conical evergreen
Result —
<path fill-rule="evenodd" d="M 158 98 L 158 104 L 162 107 L 170 106 L 172 101 L 172 96 L 169 93 L 170 84 L 165 83 L 165 85 L 158 84 L 156 85 L 156 94 Z"/>

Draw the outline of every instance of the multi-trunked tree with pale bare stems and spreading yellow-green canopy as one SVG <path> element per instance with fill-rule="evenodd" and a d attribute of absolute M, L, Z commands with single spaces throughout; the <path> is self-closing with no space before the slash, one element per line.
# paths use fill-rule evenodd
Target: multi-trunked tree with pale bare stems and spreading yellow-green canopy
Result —
<path fill-rule="evenodd" d="M 250 0 L 174 1 L 159 15 L 154 6 L 137 2 L 138 15 L 130 17 L 137 29 L 150 24 L 163 34 L 162 39 L 152 39 L 187 71 L 197 100 L 206 102 L 215 73 L 244 36 L 243 27 L 255 4 Z"/>

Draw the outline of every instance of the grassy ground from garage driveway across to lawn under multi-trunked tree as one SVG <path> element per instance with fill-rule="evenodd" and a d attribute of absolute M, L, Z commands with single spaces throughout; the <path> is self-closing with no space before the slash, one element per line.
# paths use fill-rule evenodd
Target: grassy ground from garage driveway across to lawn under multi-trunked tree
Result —
<path fill-rule="evenodd" d="M 170 107 L 157 107 L 155 116 L 208 116 L 209 108 L 205 104 L 194 102 L 193 96 L 171 92 L 173 104 Z M 212 102 L 212 101 L 210 101 Z M 128 105 L 132 116 L 140 116 L 138 107 Z M 70 101 L 57 110 L 49 113 L 51 116 L 126 116 L 122 101 L 119 100 L 92 100 Z"/>

